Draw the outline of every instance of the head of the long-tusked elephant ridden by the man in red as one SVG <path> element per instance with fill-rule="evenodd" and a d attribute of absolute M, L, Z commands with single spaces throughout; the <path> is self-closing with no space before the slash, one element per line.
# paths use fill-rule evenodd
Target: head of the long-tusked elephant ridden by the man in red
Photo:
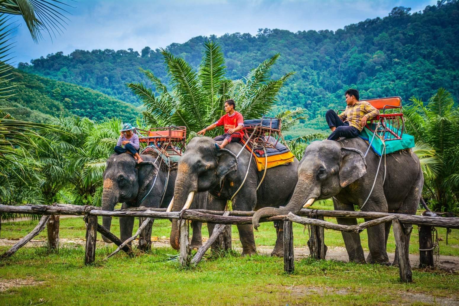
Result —
<path fill-rule="evenodd" d="M 235 154 L 226 149 L 216 150 L 215 143 L 209 137 L 195 137 L 187 145 L 178 164 L 172 211 L 189 208 L 196 192 L 219 186 L 226 174 L 236 170 Z M 172 221 L 170 243 L 174 249 L 179 249 L 177 219 Z"/>

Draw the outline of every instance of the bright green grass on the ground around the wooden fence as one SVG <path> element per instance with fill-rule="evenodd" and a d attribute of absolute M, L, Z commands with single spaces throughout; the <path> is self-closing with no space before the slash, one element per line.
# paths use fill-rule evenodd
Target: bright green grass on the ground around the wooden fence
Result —
<path fill-rule="evenodd" d="M 330 209 L 330 203 L 314 208 Z M 100 220 L 101 221 L 101 220 Z M 327 221 L 333 221 L 327 218 Z M 37 221 L 3 223 L 1 238 L 21 238 L 35 227 Z M 136 227 L 138 222 L 136 221 Z M 294 225 L 295 246 L 304 247 L 308 231 Z M 112 231 L 119 234 L 119 223 L 112 222 Z M 169 237 L 170 221 L 155 220 L 153 236 Z M 60 236 L 83 239 L 84 222 L 79 218 L 61 219 Z M 207 227 L 203 226 L 203 237 Z M 445 239 L 444 229 L 439 237 Z M 45 232 L 37 237 L 45 240 Z M 36 239 L 37 239 L 36 238 Z M 239 247 L 237 227 L 233 227 L 233 246 Z M 255 232 L 258 246 L 274 245 L 272 223 L 263 223 Z M 362 233 L 366 245 L 366 233 Z M 98 239 L 101 239 L 98 237 Z M 341 233 L 325 231 L 325 243 L 344 246 Z M 459 232 L 449 235 L 449 245 L 440 242 L 440 253 L 458 255 Z M 388 252 L 393 252 L 393 236 Z M 0 247 L 0 252 L 8 247 Z M 108 261 L 113 246 L 98 247 L 94 265 L 84 266 L 84 247 L 66 244 L 58 253 L 45 247 L 20 249 L 0 265 L 0 284 L 22 279 L 37 282 L 33 286 L 10 288 L 0 292 L 0 305 L 389 305 L 414 303 L 425 305 L 435 300 L 410 300 L 405 295 L 458 299 L 459 274 L 445 271 L 413 269 L 414 283 L 399 282 L 398 268 L 380 265 L 356 265 L 338 261 L 295 262 L 295 273 L 283 272 L 283 259 L 256 255 L 241 257 L 232 252 L 213 257 L 197 268 L 180 268 L 170 255 L 177 251 L 163 247 L 130 258 L 123 252 Z M 417 230 L 414 227 L 410 252 L 417 251 Z M 1 286 L 1 285 L 0 285 Z"/>

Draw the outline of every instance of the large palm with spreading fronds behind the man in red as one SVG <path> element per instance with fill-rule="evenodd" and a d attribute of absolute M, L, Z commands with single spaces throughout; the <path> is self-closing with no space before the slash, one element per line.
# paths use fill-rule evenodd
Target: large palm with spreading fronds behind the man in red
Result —
<path fill-rule="evenodd" d="M 229 98 L 235 100 L 236 109 L 245 119 L 260 118 L 270 112 L 280 89 L 293 74 L 289 72 L 280 79 L 271 79 L 270 68 L 280 57 L 275 54 L 244 79 L 225 79 L 223 52 L 213 41 L 204 43 L 204 55 L 198 70 L 165 49 L 161 49 L 161 53 L 171 78 L 172 93 L 151 71 L 142 68 L 140 71 L 155 86 L 156 95 L 142 83 L 128 84 L 144 102 L 144 118 L 146 124 L 152 126 L 184 125 L 190 132 L 197 132 L 223 115 L 224 101 Z M 297 119 L 303 118 L 302 111 L 296 110 Z M 213 130 L 209 136 L 219 132 Z"/>

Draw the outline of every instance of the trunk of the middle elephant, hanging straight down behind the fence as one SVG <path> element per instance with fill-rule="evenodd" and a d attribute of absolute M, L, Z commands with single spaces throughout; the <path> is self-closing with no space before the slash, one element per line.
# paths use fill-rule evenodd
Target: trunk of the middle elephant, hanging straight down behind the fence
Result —
<path fill-rule="evenodd" d="M 186 183 L 185 183 L 186 182 Z M 173 208 L 172 211 L 180 211 L 182 209 L 190 208 L 190 204 L 193 201 L 193 196 L 195 194 L 196 188 L 192 188 L 190 186 L 190 178 L 187 177 L 185 180 L 182 176 L 178 176 L 177 180 L 175 181 L 175 190 L 174 190 L 174 198 L 173 198 Z M 172 248 L 179 249 L 180 248 L 180 231 L 178 227 L 178 220 L 172 220 L 172 229 L 171 229 L 171 236 L 170 236 L 170 244 Z"/>

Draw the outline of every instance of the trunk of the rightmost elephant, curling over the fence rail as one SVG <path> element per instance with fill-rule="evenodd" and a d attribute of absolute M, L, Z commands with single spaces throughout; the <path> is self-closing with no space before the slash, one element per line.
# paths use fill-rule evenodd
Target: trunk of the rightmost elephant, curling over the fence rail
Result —
<path fill-rule="evenodd" d="M 314 200 L 319 196 L 319 193 L 315 189 L 316 188 L 311 186 L 309 180 L 300 178 L 287 206 L 282 208 L 263 207 L 257 210 L 252 217 L 253 227 L 257 229 L 260 226 L 261 218 L 272 217 L 274 215 L 287 215 L 289 212 L 296 214 L 302 207 L 311 206 Z"/>

